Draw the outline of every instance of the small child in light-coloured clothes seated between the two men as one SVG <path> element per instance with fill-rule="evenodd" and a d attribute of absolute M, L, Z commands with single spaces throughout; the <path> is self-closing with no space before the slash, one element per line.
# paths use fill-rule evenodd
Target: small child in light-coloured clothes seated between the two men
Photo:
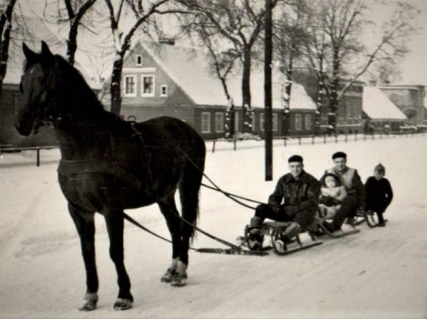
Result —
<path fill-rule="evenodd" d="M 319 210 L 321 218 L 332 218 L 341 207 L 342 200 L 347 196 L 335 174 L 325 175 L 324 185 L 320 188 Z"/>

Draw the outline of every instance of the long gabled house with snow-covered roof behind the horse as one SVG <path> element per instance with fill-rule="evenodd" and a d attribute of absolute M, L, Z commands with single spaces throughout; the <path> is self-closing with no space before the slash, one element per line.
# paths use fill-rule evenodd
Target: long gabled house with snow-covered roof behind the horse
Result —
<path fill-rule="evenodd" d="M 204 139 L 225 136 L 228 101 L 220 80 L 212 74 L 208 57 L 200 50 L 173 43 L 147 45 L 141 42 L 129 51 L 123 63 L 121 115 L 143 121 L 173 116 L 193 126 Z M 273 135 L 282 136 L 284 77 L 273 72 Z M 241 76 L 230 75 L 227 86 L 235 105 L 235 131 L 243 131 Z M 313 132 L 315 104 L 305 89 L 295 84 L 291 92 L 291 132 Z M 264 74 L 251 73 L 254 134 L 264 135 Z M 108 104 L 107 100 L 104 101 Z"/>

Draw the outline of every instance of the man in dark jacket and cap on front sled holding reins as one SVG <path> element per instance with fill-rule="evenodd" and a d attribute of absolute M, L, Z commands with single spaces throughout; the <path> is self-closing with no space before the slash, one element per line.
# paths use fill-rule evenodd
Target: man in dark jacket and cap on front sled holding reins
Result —
<path fill-rule="evenodd" d="M 260 249 L 263 237 L 258 231 L 265 218 L 276 221 L 292 221 L 286 229 L 286 241 L 301 232 L 314 220 L 318 208 L 320 183 L 304 171 L 303 158 L 293 155 L 288 159 L 290 173 L 280 177 L 274 192 L 269 196 L 268 204 L 260 204 L 251 218 L 252 229 L 250 248 Z M 282 203 L 283 202 L 283 203 Z"/>

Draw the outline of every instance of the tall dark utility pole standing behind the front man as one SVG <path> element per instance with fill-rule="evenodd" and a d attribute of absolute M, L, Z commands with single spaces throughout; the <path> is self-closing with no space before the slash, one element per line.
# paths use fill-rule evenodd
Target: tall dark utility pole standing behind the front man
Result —
<path fill-rule="evenodd" d="M 272 8 L 271 0 L 266 0 L 265 57 L 264 57 L 264 133 L 265 133 L 265 180 L 273 180 L 273 134 L 272 134 Z"/>

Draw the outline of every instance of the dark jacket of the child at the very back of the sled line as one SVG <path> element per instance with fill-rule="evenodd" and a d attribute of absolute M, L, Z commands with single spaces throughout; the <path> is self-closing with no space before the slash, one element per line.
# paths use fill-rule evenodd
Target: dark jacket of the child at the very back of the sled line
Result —
<path fill-rule="evenodd" d="M 365 183 L 366 209 L 383 213 L 393 199 L 390 182 L 386 178 L 369 177 Z"/>

